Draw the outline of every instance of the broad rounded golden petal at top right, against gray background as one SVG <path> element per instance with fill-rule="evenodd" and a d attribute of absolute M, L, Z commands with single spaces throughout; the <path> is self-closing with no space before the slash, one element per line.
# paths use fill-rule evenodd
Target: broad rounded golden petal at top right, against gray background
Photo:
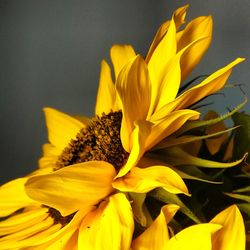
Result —
<path fill-rule="evenodd" d="M 211 16 L 201 16 L 192 20 L 181 32 L 177 42 L 177 50 L 180 51 L 192 41 L 199 37 L 208 37 L 200 43 L 196 43 L 181 58 L 182 80 L 186 79 L 192 69 L 200 62 L 201 58 L 207 51 L 212 38 L 213 20 Z"/>

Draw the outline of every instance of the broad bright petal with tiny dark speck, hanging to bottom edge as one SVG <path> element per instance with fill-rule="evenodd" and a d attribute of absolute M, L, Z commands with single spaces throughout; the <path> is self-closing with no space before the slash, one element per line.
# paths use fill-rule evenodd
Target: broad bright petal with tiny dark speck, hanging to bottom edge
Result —
<path fill-rule="evenodd" d="M 79 249 L 128 250 L 134 230 L 133 213 L 124 194 L 115 194 L 90 212 L 79 229 Z"/>

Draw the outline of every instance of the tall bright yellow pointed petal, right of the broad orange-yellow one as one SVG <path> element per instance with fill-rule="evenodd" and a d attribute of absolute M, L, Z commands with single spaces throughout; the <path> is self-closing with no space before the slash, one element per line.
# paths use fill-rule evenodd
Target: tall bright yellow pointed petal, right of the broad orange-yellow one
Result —
<path fill-rule="evenodd" d="M 159 42 L 148 62 L 148 70 L 152 82 L 150 114 L 153 113 L 158 102 L 158 93 L 161 91 L 161 85 L 165 78 L 166 70 L 171 59 L 176 54 L 176 49 L 176 26 L 172 18 L 166 35 Z"/>

